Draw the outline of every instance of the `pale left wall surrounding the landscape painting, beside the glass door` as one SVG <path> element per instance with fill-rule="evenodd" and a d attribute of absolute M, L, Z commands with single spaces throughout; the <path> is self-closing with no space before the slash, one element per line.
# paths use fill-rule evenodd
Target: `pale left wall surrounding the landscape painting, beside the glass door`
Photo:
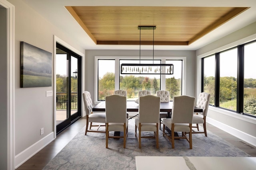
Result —
<path fill-rule="evenodd" d="M 84 53 L 68 33 L 56 28 L 42 18 L 23 1 L 8 0 L 15 6 L 15 166 L 19 166 L 54 138 L 54 99 L 46 98 L 46 91 L 54 91 L 54 71 L 52 86 L 20 88 L 20 41 L 52 53 L 54 69 L 54 35 Z M 44 134 L 40 135 L 40 129 Z"/>

